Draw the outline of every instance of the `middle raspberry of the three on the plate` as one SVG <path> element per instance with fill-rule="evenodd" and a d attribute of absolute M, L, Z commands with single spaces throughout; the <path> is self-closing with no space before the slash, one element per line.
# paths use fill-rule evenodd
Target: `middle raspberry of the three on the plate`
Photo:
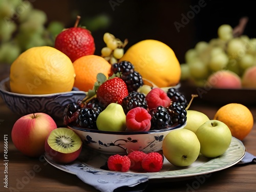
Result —
<path fill-rule="evenodd" d="M 131 160 L 131 170 L 140 171 L 142 170 L 141 162 L 146 157 L 146 154 L 141 151 L 133 151 L 127 155 Z"/>

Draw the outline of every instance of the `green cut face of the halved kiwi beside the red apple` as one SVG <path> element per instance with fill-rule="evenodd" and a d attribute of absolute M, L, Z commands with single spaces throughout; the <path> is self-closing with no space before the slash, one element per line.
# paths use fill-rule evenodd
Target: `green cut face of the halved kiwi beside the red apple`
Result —
<path fill-rule="evenodd" d="M 64 154 L 79 150 L 82 144 L 80 137 L 73 130 L 63 127 L 53 130 L 47 142 L 53 150 Z"/>

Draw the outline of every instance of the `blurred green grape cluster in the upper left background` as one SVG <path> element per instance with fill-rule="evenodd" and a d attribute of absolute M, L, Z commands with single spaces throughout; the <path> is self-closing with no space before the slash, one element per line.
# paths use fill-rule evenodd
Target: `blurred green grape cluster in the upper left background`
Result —
<path fill-rule="evenodd" d="M 12 63 L 31 47 L 52 46 L 54 34 L 63 29 L 59 22 L 45 26 L 47 15 L 30 1 L 0 1 L 0 62 Z M 56 31 L 57 30 L 57 31 Z"/>

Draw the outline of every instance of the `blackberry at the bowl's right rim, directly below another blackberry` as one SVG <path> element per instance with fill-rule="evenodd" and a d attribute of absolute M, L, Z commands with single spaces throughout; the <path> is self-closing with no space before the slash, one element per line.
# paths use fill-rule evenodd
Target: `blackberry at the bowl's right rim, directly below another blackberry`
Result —
<path fill-rule="evenodd" d="M 168 113 L 172 118 L 172 124 L 184 124 L 187 120 L 187 111 L 180 102 L 173 102 L 168 107 Z"/>

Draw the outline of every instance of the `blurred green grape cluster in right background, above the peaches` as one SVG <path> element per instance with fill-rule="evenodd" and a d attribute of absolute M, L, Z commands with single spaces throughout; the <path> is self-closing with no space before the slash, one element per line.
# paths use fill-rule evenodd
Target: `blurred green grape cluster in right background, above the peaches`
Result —
<path fill-rule="evenodd" d="M 218 36 L 209 42 L 199 41 L 185 53 L 181 65 L 181 80 L 191 80 L 203 86 L 211 74 L 227 70 L 240 78 L 244 72 L 256 66 L 256 38 L 236 35 L 230 25 L 218 28 Z"/>

